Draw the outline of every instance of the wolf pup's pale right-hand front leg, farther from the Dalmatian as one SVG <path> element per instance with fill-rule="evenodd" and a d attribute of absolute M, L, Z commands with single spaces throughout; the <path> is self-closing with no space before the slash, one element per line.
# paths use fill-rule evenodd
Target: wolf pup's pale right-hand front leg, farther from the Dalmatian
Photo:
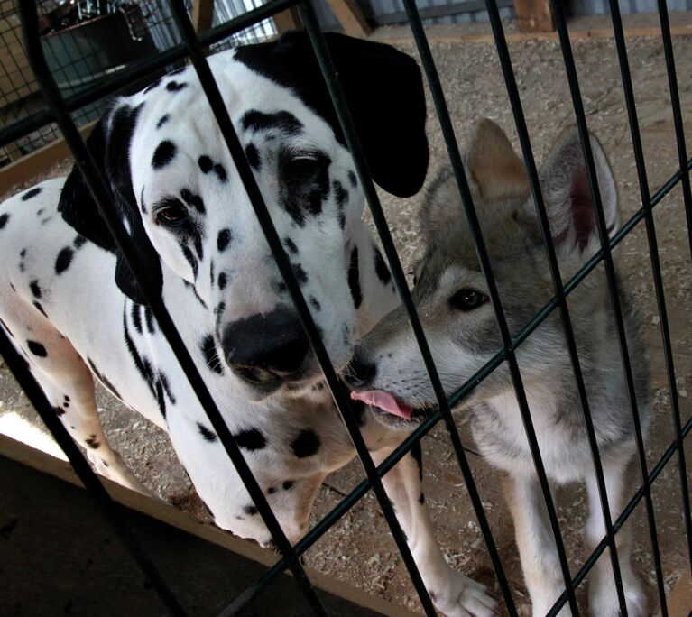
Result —
<path fill-rule="evenodd" d="M 624 486 L 628 476 L 628 467 L 631 456 L 619 456 L 614 459 L 603 459 L 603 472 L 605 489 L 608 493 L 608 505 L 611 519 L 615 520 L 624 505 Z M 589 550 L 593 550 L 604 538 L 605 525 L 601 501 L 598 496 L 598 487 L 595 474 L 586 478 L 586 490 L 589 498 L 589 517 L 586 521 L 586 541 Z M 632 532 L 629 521 L 615 535 L 615 547 L 617 548 L 620 572 L 623 576 L 623 590 L 627 603 L 627 612 L 632 617 L 640 617 L 646 614 L 646 597 L 641 592 L 641 586 L 637 577 L 632 572 L 630 564 L 630 552 L 632 548 Z M 592 615 L 603 617 L 616 617 L 620 614 L 620 605 L 615 592 L 613 567 L 606 549 L 596 562 L 589 584 L 589 612 Z"/>

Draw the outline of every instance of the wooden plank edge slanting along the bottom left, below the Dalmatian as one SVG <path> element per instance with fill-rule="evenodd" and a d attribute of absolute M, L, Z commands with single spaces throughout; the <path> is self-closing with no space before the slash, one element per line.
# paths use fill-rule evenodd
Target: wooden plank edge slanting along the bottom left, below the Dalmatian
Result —
<path fill-rule="evenodd" d="M 82 487 L 77 474 L 74 473 L 67 461 L 62 461 L 3 434 L 0 434 L 0 456 L 7 456 L 18 463 L 28 465 L 45 474 L 51 474 L 75 486 Z M 116 502 L 122 503 L 134 511 L 142 512 L 176 529 L 186 531 L 208 542 L 213 542 L 219 547 L 232 550 L 238 555 L 253 559 L 264 566 L 272 566 L 276 562 L 276 553 L 271 549 L 260 548 L 258 544 L 250 540 L 237 538 L 214 525 L 195 519 L 166 502 L 135 493 L 120 484 L 106 480 L 106 478 L 101 478 L 101 482 L 104 483 L 106 490 Z M 374 612 L 379 612 L 386 617 L 417 617 L 417 613 L 388 603 L 383 598 L 365 594 L 360 589 L 338 581 L 332 576 L 327 576 L 307 567 L 305 571 L 313 585 L 318 587 L 318 589 L 323 589 L 330 594 L 344 598 L 348 602 L 358 604 Z"/>

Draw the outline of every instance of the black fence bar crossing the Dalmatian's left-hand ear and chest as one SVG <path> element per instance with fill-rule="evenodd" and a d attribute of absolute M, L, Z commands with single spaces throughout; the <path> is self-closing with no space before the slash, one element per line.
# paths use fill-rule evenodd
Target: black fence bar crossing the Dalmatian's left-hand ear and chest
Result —
<path fill-rule="evenodd" d="M 152 292 L 153 289 L 156 289 L 156 286 L 151 284 L 148 270 L 141 262 L 134 249 L 132 239 L 126 233 L 124 226 L 115 214 L 116 210 L 112 198 L 110 198 L 108 190 L 106 189 L 105 180 L 98 170 L 96 162 L 88 151 L 86 144 L 82 141 L 77 127 L 72 122 L 69 112 L 65 107 L 60 89 L 57 87 L 55 79 L 52 77 L 51 71 L 43 56 L 35 4 L 33 2 L 21 3 L 20 11 L 26 37 L 26 51 L 32 63 L 32 69 L 42 87 L 42 92 L 49 106 L 51 106 L 55 120 L 59 124 L 62 134 L 65 136 L 65 141 L 69 144 L 70 150 L 74 153 L 78 168 L 88 184 L 88 189 L 95 198 L 97 207 L 106 222 L 108 231 L 113 235 L 115 243 L 119 246 L 125 257 L 127 266 L 130 268 L 131 272 L 133 272 L 134 278 L 140 290 L 143 292 L 143 296 L 149 302 L 153 315 L 161 327 L 161 332 L 163 332 L 169 345 L 171 345 L 171 350 L 178 359 L 193 391 L 195 391 L 198 400 L 207 413 L 212 427 L 217 431 L 217 435 L 226 450 L 226 454 L 235 465 L 238 474 L 243 478 L 245 488 L 248 493 L 250 493 L 257 510 L 263 517 L 268 530 L 272 533 L 272 537 L 278 548 L 281 549 L 284 556 L 288 557 L 291 572 L 296 577 L 303 594 L 305 594 L 310 606 L 316 614 L 326 615 L 327 613 L 314 588 L 310 584 L 309 578 L 300 564 L 300 560 L 293 554 L 290 542 L 281 530 L 281 526 L 278 520 L 276 520 L 269 503 L 266 501 L 262 489 L 254 480 L 254 476 L 245 462 L 244 456 L 235 444 L 233 436 L 226 427 L 226 422 L 224 422 L 206 384 L 199 375 L 196 365 L 192 361 L 187 348 L 180 338 L 178 330 L 172 322 L 168 310 L 163 304 L 161 295 Z"/>

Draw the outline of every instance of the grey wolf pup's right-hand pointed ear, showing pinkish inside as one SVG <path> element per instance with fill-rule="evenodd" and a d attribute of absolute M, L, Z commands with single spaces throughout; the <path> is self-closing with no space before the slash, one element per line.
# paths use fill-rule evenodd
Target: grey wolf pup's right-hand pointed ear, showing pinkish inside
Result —
<path fill-rule="evenodd" d="M 594 153 L 605 226 L 610 235 L 618 228 L 617 189 L 613 171 L 595 136 L 589 134 L 589 141 Z M 555 244 L 567 246 L 567 249 L 574 249 L 579 254 L 584 253 L 592 240 L 597 240 L 598 229 L 581 140 L 576 128 L 567 130 L 558 137 L 540 171 L 540 188 Z M 527 207 L 533 208 L 532 200 Z M 535 217 L 535 213 L 533 216 Z"/>

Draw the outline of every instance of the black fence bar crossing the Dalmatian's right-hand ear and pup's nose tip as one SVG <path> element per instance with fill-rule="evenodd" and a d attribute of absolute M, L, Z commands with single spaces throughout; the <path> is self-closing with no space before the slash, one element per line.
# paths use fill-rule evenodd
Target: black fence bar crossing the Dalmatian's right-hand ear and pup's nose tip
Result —
<path fill-rule="evenodd" d="M 399 291 L 400 298 L 403 302 L 406 312 L 408 314 L 409 322 L 413 330 L 414 336 L 420 348 L 420 354 L 423 357 L 423 362 L 425 364 L 426 371 L 429 374 L 430 382 L 432 383 L 433 390 L 435 391 L 435 396 L 438 401 L 438 409 L 445 420 L 447 431 L 452 440 L 452 445 L 455 449 L 457 456 L 457 461 L 461 469 L 462 475 L 466 483 L 466 488 L 468 490 L 469 496 L 471 498 L 472 505 L 476 517 L 478 518 L 478 524 L 481 529 L 481 533 L 484 537 L 485 545 L 488 548 L 488 554 L 491 557 L 491 561 L 494 566 L 495 575 L 498 580 L 498 585 L 500 585 L 504 602 L 511 612 L 511 614 L 516 613 L 516 608 L 514 606 L 514 601 L 512 599 L 512 591 L 510 590 L 507 577 L 504 574 L 502 562 L 500 560 L 499 554 L 497 553 L 497 548 L 495 547 L 492 531 L 490 530 L 490 525 L 485 517 L 483 503 L 481 502 L 480 495 L 475 486 L 473 479 L 473 474 L 471 473 L 470 465 L 466 460 L 466 454 L 461 445 L 461 439 L 459 437 L 456 425 L 454 424 L 454 419 L 452 418 L 449 405 L 447 403 L 447 397 L 442 388 L 442 384 L 439 381 L 439 376 L 435 363 L 430 354 L 429 345 L 423 333 L 423 329 L 420 325 L 420 319 L 416 313 L 415 306 L 413 305 L 413 300 L 411 299 L 411 292 L 409 291 L 408 285 L 406 283 L 406 277 L 401 268 L 401 262 L 399 260 L 398 253 L 396 252 L 396 247 L 394 246 L 392 235 L 387 226 L 386 219 L 383 214 L 383 209 L 380 204 L 379 198 L 377 198 L 377 193 L 374 189 L 373 180 L 370 174 L 367 172 L 367 164 L 364 160 L 363 152 L 360 146 L 360 141 L 358 135 L 355 131 L 355 126 L 351 120 L 350 114 L 344 102 L 343 95 L 341 93 L 341 87 L 339 86 L 336 72 L 333 63 L 329 57 L 328 48 L 326 41 L 319 29 L 317 16 L 314 13 L 314 8 L 309 3 L 309 0 L 305 0 L 300 5 L 301 16 L 303 23 L 305 23 L 306 30 L 309 33 L 310 39 L 313 42 L 316 54 L 318 56 L 318 62 L 320 69 L 322 70 L 322 75 L 327 82 L 329 95 L 332 99 L 332 103 L 337 111 L 337 117 L 339 119 L 339 124 L 344 131 L 346 137 L 346 143 L 351 155 L 354 158 L 355 170 L 361 181 L 361 186 L 364 189 L 365 198 L 370 207 L 370 211 L 373 216 L 374 225 L 377 228 L 377 232 L 380 235 L 380 239 L 383 243 L 383 250 L 389 262 L 390 269 L 392 271 L 392 280 L 394 281 L 397 290 Z"/>

